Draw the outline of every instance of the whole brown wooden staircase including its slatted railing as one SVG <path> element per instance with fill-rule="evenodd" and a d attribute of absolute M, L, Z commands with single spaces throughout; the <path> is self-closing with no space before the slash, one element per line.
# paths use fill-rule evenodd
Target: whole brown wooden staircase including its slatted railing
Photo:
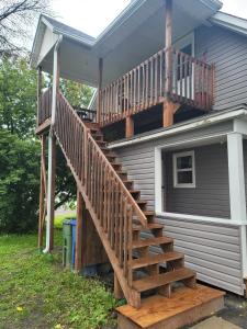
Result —
<path fill-rule="evenodd" d="M 195 288 L 195 273 L 164 236 L 164 225 L 134 190 L 99 125 L 82 122 L 59 91 L 53 128 L 128 304 L 139 308 L 147 291 L 170 297 L 176 282 Z M 154 246 L 159 254 L 151 252 Z"/>

